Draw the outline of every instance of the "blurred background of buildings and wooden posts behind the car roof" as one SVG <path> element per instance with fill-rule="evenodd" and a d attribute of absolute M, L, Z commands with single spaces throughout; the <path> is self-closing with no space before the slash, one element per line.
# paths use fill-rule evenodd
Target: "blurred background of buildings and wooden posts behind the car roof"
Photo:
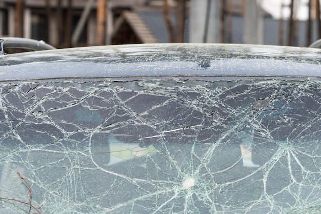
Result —
<path fill-rule="evenodd" d="M 56 48 L 133 43 L 307 47 L 319 0 L 0 0 L 0 36 Z"/>

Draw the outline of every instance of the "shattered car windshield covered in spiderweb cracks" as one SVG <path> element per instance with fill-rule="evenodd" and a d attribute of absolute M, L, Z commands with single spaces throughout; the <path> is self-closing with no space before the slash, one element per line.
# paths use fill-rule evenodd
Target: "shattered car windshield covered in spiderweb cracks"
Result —
<path fill-rule="evenodd" d="M 316 79 L 0 84 L 2 213 L 318 213 Z"/>

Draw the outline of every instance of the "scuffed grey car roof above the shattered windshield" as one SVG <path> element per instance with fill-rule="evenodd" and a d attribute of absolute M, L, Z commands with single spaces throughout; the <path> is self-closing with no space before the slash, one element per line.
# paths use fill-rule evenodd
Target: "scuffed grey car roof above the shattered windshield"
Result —
<path fill-rule="evenodd" d="M 0 57 L 0 81 L 141 76 L 321 76 L 321 51 L 302 47 L 136 44 Z"/>

